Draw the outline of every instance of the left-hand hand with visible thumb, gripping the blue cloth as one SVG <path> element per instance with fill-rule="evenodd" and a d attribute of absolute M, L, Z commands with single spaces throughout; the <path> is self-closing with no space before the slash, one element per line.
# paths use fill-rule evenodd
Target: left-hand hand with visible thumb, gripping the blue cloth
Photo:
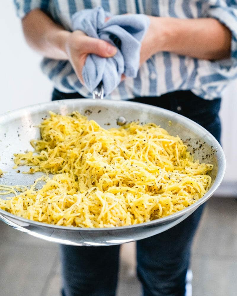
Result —
<path fill-rule="evenodd" d="M 100 57 L 113 57 L 117 52 L 116 47 L 108 42 L 89 37 L 79 30 L 68 34 L 64 49 L 79 81 L 83 85 L 82 69 L 88 54 L 96 54 Z"/>

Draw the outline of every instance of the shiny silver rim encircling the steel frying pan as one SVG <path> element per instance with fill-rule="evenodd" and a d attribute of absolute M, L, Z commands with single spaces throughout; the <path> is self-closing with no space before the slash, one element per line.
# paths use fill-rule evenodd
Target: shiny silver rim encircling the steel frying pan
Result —
<path fill-rule="evenodd" d="M 120 101 L 120 100 L 106 100 L 106 99 L 105 100 L 99 100 L 99 99 L 97 99 L 97 100 L 95 100 L 95 99 L 70 99 L 70 100 L 68 100 L 68 99 L 64 99 L 64 100 L 53 101 L 53 102 L 33 104 L 33 105 L 30 105 L 27 107 L 18 108 L 13 111 L 5 112 L 3 114 L 0 114 L 0 124 L 2 124 L 4 122 L 4 120 L 6 120 L 9 117 L 9 113 L 11 114 L 11 119 L 14 119 L 18 115 L 20 115 L 22 112 L 25 112 L 27 114 L 29 114 L 29 113 L 33 114 L 33 113 L 36 113 L 39 111 L 43 111 L 46 108 L 55 107 L 55 105 L 56 106 L 57 105 L 73 106 L 74 103 L 76 103 L 76 102 L 78 103 L 78 100 L 80 100 L 81 103 L 87 102 L 88 104 L 93 104 L 94 105 L 93 107 L 105 107 L 105 108 L 106 107 L 119 107 L 120 104 L 122 104 L 122 105 L 127 104 L 128 107 L 133 106 L 133 109 L 136 109 L 135 107 L 137 107 L 137 109 L 141 109 L 141 107 L 142 107 L 147 110 L 150 109 L 150 111 L 157 110 L 158 113 L 160 112 L 160 113 L 162 113 L 162 115 L 165 115 L 166 117 L 168 117 L 167 120 L 169 120 L 169 117 L 172 117 L 172 115 L 175 115 L 175 117 L 178 117 L 180 119 L 179 123 L 181 125 L 185 125 L 185 124 L 189 123 L 191 127 L 193 127 L 193 128 L 196 127 L 196 129 L 199 131 L 201 130 L 203 132 L 204 136 L 208 136 L 208 138 L 214 143 L 214 146 L 217 149 L 216 157 L 217 157 L 218 161 L 220 162 L 220 166 L 217 170 L 217 175 L 216 175 L 215 181 L 213 182 L 211 188 L 204 194 L 203 197 L 201 197 L 200 200 L 198 200 L 194 204 L 186 207 L 185 209 L 178 211 L 177 213 L 174 213 L 172 215 L 169 215 L 169 216 L 166 216 L 163 218 L 158 218 L 158 219 L 155 219 L 152 221 L 129 225 L 129 226 L 105 227 L 105 228 L 81 228 L 81 227 L 73 227 L 73 226 L 71 226 L 71 227 L 70 226 L 60 226 L 60 225 L 48 224 L 48 223 L 44 223 L 44 222 L 38 222 L 38 221 L 25 219 L 25 218 L 13 215 L 11 213 L 8 213 L 8 212 L 0 209 L 0 213 L 2 215 L 12 218 L 14 220 L 23 222 L 23 223 L 33 224 L 35 226 L 40 226 L 40 227 L 49 227 L 49 228 L 52 228 L 55 230 L 58 229 L 58 230 L 68 230 L 68 231 L 120 231 L 120 230 L 126 230 L 126 229 L 134 229 L 137 227 L 156 226 L 156 224 L 163 225 L 163 224 L 166 224 L 167 222 L 169 223 L 174 220 L 177 220 L 181 216 L 196 210 L 196 208 L 198 208 L 201 204 L 206 202 L 206 200 L 208 200 L 214 194 L 214 192 L 217 190 L 217 188 L 220 186 L 221 181 L 225 175 L 226 160 L 225 160 L 224 151 L 223 151 L 222 147 L 220 146 L 220 144 L 218 143 L 218 141 L 214 138 L 214 136 L 212 136 L 211 133 L 209 133 L 209 131 L 207 131 L 205 128 L 203 128 L 202 126 L 200 126 L 198 123 L 194 122 L 193 120 L 186 118 L 185 116 L 175 113 L 173 111 L 161 108 L 161 107 L 156 107 L 156 106 L 138 103 L 138 102 L 130 102 L 130 101 L 128 102 L 126 100 Z M 48 109 L 47 112 L 49 110 L 50 109 Z M 33 111 L 33 112 L 31 112 L 31 111 Z"/>

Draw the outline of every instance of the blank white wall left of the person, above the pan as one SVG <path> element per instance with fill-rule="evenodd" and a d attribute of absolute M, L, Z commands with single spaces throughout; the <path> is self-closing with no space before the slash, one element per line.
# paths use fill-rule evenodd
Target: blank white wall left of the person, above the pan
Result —
<path fill-rule="evenodd" d="M 41 57 L 23 41 L 13 1 L 1 1 L 0 113 L 47 102 L 52 89 L 39 68 Z"/>

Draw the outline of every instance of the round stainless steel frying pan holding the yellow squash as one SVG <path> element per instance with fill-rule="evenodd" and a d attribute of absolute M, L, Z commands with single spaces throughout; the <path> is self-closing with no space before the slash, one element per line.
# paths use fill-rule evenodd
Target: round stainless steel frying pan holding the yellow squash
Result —
<path fill-rule="evenodd" d="M 89 119 L 94 119 L 105 128 L 116 127 L 117 118 L 123 116 L 127 121 L 140 120 L 141 123 L 154 122 L 170 134 L 186 142 L 194 157 L 214 168 L 210 174 L 212 184 L 209 191 L 195 204 L 171 216 L 133 226 L 88 229 L 52 226 L 26 220 L 0 210 L 0 219 L 8 225 L 50 242 L 79 246 L 105 246 L 131 242 L 161 233 L 180 223 L 193 213 L 216 191 L 225 173 L 225 156 L 217 140 L 197 123 L 174 112 L 150 105 L 112 100 L 73 99 L 37 104 L 31 107 L 8 112 L 0 116 L 0 168 L 4 173 L 0 184 L 28 185 L 41 175 L 17 173 L 12 169 L 13 153 L 32 150 L 30 139 L 40 136 L 36 126 L 52 110 L 67 114 L 78 110 Z M 20 167 L 20 171 L 27 168 Z M 6 197 L 6 196 L 5 196 Z"/>

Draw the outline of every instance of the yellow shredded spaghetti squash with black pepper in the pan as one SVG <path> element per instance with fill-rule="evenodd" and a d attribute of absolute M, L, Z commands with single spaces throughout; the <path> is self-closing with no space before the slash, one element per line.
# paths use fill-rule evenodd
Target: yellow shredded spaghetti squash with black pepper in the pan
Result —
<path fill-rule="evenodd" d="M 0 185 L 15 195 L 0 208 L 30 220 L 91 228 L 148 222 L 193 204 L 211 183 L 213 166 L 193 161 L 178 136 L 154 123 L 106 130 L 78 112 L 50 112 L 40 131 L 35 151 L 14 161 L 46 176 L 32 186 Z"/>

